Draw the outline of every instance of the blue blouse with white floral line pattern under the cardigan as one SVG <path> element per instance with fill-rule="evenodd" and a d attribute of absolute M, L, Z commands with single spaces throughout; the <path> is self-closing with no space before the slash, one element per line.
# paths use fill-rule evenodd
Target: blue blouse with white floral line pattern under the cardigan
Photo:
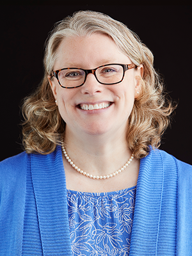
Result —
<path fill-rule="evenodd" d="M 108 193 L 67 191 L 73 256 L 128 256 L 136 186 Z"/>

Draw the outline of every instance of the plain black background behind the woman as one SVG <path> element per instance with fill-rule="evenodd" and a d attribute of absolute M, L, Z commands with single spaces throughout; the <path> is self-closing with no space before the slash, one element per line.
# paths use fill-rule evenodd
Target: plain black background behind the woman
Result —
<path fill-rule="evenodd" d="M 43 77 L 44 42 L 54 22 L 77 10 L 95 10 L 124 22 L 154 53 L 154 67 L 163 74 L 170 96 L 179 103 L 161 148 L 192 164 L 191 5 L 44 2 L 47 5 L 1 5 L 0 160 L 22 152 L 20 101 Z"/>

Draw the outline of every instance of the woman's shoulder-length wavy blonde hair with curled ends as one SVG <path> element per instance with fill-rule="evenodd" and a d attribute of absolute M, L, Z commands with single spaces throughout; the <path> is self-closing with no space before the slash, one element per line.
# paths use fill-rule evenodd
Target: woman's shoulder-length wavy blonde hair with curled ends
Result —
<path fill-rule="evenodd" d="M 55 104 L 47 76 L 52 72 L 57 49 L 64 38 L 89 36 L 93 33 L 110 36 L 132 63 L 143 65 L 142 90 L 129 116 L 127 143 L 139 159 L 147 156 L 150 145 L 153 148 L 159 147 L 175 107 L 164 92 L 159 74 L 154 70 L 152 52 L 121 22 L 103 13 L 80 11 L 55 24 L 45 47 L 44 79 L 22 104 L 23 145 L 27 153 L 49 154 L 60 144 L 61 134 L 65 134 L 65 122 Z"/>

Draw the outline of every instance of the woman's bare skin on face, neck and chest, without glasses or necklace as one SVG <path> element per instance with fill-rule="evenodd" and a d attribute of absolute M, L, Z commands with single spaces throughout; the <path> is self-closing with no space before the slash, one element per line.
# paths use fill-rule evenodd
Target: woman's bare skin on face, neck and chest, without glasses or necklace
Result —
<path fill-rule="evenodd" d="M 66 67 L 92 69 L 109 63 L 132 62 L 107 35 L 73 36 L 63 40 L 58 47 L 53 70 Z M 142 74 L 142 65 L 132 68 L 125 72 L 121 83 L 113 85 L 100 84 L 93 74 L 88 74 L 83 86 L 72 89 L 61 88 L 55 77 L 49 80 L 60 115 L 66 122 L 68 155 L 85 172 L 94 175 L 113 173 L 131 156 L 125 137 L 134 99 L 140 92 Z M 94 110 L 80 108 L 83 104 L 103 102 L 110 106 Z M 84 177 L 67 163 L 65 157 L 63 162 L 68 189 L 104 192 L 136 185 L 138 159 L 109 180 Z"/>

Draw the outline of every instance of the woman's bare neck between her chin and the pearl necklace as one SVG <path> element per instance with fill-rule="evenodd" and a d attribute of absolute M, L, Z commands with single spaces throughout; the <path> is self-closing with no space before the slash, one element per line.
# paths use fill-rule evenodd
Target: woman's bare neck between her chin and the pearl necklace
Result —
<path fill-rule="evenodd" d="M 105 175 L 115 172 L 131 157 L 125 136 L 81 134 L 66 129 L 65 145 L 68 156 L 85 172 Z"/>

